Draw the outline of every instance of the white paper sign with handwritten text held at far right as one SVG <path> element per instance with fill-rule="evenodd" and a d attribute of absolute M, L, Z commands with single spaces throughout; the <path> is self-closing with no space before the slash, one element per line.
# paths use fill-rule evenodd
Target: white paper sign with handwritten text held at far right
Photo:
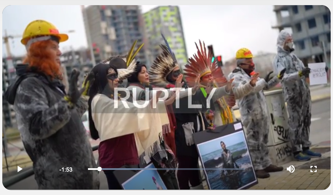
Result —
<path fill-rule="evenodd" d="M 326 63 L 310 63 L 308 66 L 311 69 L 309 75 L 310 85 L 327 84 Z"/>

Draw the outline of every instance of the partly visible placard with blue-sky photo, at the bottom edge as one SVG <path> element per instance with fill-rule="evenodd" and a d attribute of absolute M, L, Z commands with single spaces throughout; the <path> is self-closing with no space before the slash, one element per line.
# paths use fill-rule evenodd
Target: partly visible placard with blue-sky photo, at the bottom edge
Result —
<path fill-rule="evenodd" d="M 150 163 L 145 168 L 149 169 L 115 170 L 114 174 L 124 190 L 166 190 L 154 164 Z"/>

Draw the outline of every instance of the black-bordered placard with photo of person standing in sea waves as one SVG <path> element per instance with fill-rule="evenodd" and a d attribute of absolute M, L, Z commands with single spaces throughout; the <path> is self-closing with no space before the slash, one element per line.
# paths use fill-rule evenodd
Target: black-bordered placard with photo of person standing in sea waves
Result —
<path fill-rule="evenodd" d="M 240 122 L 193 134 L 208 189 L 248 189 L 258 183 Z"/>

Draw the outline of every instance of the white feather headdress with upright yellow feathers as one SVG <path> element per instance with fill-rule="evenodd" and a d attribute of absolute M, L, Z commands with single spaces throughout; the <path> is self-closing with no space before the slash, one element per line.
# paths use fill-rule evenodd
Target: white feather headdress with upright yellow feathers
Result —
<path fill-rule="evenodd" d="M 111 56 L 108 59 L 101 61 L 101 63 L 109 64 L 110 61 L 116 57 L 122 58 L 126 62 L 127 68 L 126 69 L 125 68 L 117 69 L 118 78 L 120 80 L 127 79 L 135 72 L 135 67 L 137 66 L 137 59 L 135 58 L 135 56 L 139 53 L 140 49 L 144 46 L 144 44 L 141 44 L 139 46 L 139 48 L 137 50 L 135 50 L 135 52 L 133 52 L 137 42 L 138 42 L 138 40 L 136 40 L 132 44 L 132 47 L 127 55 Z M 110 69 L 110 71 L 112 71 L 112 69 Z"/>

